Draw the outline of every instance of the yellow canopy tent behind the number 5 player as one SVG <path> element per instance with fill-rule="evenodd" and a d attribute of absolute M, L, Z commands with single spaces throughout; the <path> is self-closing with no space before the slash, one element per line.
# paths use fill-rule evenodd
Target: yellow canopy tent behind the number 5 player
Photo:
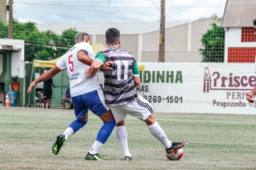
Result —
<path fill-rule="evenodd" d="M 99 51 L 104 50 L 105 47 L 101 43 L 93 43 L 92 44 L 92 50 L 94 54 L 96 55 Z M 53 67 L 57 63 L 57 61 L 60 60 L 62 56 L 55 58 L 53 60 L 34 60 L 33 61 L 33 67 Z"/>

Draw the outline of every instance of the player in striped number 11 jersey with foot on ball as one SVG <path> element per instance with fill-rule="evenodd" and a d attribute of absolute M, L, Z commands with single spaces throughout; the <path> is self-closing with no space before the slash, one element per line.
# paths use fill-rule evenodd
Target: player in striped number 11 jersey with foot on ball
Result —
<path fill-rule="evenodd" d="M 109 28 L 105 35 L 108 49 L 100 51 L 96 55 L 85 75 L 87 78 L 93 78 L 92 76 L 104 63 L 113 61 L 113 70 L 103 70 L 104 97 L 106 105 L 110 107 L 117 123 L 116 136 L 124 152 L 124 159 L 132 160 L 124 123 L 127 114 L 137 117 L 147 124 L 150 133 L 163 144 L 168 158 L 168 154 L 183 147 L 187 141 L 171 142 L 166 137 L 164 130 L 156 122 L 153 106 L 135 92 L 135 88 L 140 85 L 135 57 L 132 53 L 120 49 L 120 33 L 116 28 Z"/>

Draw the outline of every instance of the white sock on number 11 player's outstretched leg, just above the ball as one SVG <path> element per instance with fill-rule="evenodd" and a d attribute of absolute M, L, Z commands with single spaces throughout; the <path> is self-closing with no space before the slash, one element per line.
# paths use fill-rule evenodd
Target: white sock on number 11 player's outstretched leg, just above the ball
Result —
<path fill-rule="evenodd" d="M 156 137 L 163 145 L 165 149 L 172 147 L 172 142 L 166 137 L 164 130 L 159 126 L 157 122 L 148 126 L 150 133 Z"/>

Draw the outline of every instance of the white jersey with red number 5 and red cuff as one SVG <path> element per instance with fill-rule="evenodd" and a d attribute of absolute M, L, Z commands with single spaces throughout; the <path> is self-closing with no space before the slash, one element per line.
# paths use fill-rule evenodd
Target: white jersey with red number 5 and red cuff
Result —
<path fill-rule="evenodd" d="M 94 59 L 95 55 L 91 44 L 81 42 L 70 48 L 55 65 L 59 70 L 67 69 L 71 97 L 92 92 L 100 88 L 98 73 L 93 78 L 85 77 L 84 72 L 90 66 L 78 61 L 77 53 L 81 50 L 85 51 L 91 59 Z"/>

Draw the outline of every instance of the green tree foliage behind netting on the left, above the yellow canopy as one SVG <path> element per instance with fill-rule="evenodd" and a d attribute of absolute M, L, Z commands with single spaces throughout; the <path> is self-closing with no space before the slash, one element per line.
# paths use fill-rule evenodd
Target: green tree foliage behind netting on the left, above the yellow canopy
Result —
<path fill-rule="evenodd" d="M 74 45 L 74 37 L 77 31 L 74 29 L 65 30 L 61 35 L 51 31 L 40 32 L 36 23 L 19 23 L 13 21 L 13 39 L 25 41 L 25 61 L 52 60 L 57 58 Z M 8 38 L 8 24 L 0 21 L 0 38 Z M 51 46 L 51 47 L 47 47 Z"/>

